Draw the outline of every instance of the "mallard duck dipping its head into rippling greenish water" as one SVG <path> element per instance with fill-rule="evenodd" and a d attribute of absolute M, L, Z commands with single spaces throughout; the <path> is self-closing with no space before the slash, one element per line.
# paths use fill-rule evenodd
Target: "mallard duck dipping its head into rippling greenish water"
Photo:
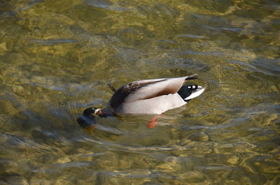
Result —
<path fill-rule="evenodd" d="M 204 87 L 197 84 L 184 85 L 188 80 L 197 78 L 197 74 L 193 74 L 184 77 L 138 80 L 124 84 L 117 90 L 109 86 L 114 91 L 109 101 L 110 110 L 87 108 L 83 115 L 91 119 L 92 114 L 99 117 L 123 114 L 160 115 L 167 110 L 186 105 L 191 99 L 200 96 L 204 92 Z"/>

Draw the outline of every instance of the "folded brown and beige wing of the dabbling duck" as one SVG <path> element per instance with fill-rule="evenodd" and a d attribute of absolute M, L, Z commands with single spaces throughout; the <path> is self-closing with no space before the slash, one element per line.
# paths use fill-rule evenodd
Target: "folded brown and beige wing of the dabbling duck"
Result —
<path fill-rule="evenodd" d="M 113 94 L 110 105 L 113 109 L 122 103 L 146 100 L 162 95 L 176 94 L 186 80 L 197 79 L 197 75 L 186 77 L 160 78 L 153 80 L 139 80 L 125 84 Z"/>

